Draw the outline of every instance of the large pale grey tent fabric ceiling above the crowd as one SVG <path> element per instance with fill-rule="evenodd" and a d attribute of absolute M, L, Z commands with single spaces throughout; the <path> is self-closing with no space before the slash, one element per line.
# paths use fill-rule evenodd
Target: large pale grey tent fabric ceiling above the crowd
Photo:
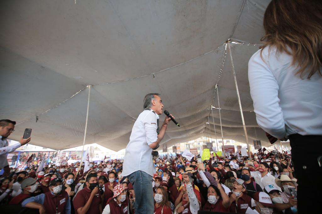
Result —
<path fill-rule="evenodd" d="M 25 121 L 16 125 L 13 140 L 32 128 L 32 144 L 57 150 L 80 146 L 91 85 L 86 144 L 117 151 L 128 143 L 144 95 L 157 92 L 181 125 L 169 126 L 162 143 L 171 146 L 205 132 L 214 138 L 211 105 L 218 108 L 218 81 L 224 138 L 245 142 L 224 44 L 231 38 L 245 43 L 231 47 L 249 139 L 268 146 L 252 112 L 247 79 L 268 3 L 2 1 L 1 118 Z M 221 138 L 219 111 L 213 111 Z M 30 120 L 37 115 L 37 122 Z"/>

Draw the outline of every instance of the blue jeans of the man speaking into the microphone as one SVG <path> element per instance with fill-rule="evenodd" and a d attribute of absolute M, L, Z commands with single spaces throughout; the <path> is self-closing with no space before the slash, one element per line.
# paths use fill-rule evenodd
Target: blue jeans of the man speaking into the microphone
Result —
<path fill-rule="evenodd" d="M 131 173 L 127 177 L 133 184 L 135 214 L 153 214 L 152 176 L 139 170 Z"/>

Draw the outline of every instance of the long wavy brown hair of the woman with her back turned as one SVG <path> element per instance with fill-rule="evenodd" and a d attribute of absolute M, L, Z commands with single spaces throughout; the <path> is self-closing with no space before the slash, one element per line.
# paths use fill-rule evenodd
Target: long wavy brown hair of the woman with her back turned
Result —
<path fill-rule="evenodd" d="M 264 47 L 293 57 L 297 74 L 308 79 L 322 67 L 322 1 L 272 0 L 264 14 Z M 262 53 L 262 52 L 261 52 Z"/>

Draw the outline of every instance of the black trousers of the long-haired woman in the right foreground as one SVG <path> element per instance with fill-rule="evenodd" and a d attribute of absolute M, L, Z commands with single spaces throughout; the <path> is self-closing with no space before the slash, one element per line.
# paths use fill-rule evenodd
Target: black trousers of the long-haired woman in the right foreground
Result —
<path fill-rule="evenodd" d="M 321 209 L 322 135 L 289 135 L 294 173 L 298 179 L 298 213 Z M 320 212 L 320 211 L 319 211 Z"/>

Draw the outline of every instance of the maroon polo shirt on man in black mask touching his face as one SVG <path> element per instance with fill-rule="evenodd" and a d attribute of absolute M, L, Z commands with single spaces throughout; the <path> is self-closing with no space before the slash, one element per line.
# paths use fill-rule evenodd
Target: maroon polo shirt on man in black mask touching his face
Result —
<path fill-rule="evenodd" d="M 77 193 L 73 205 L 75 209 L 75 213 L 78 214 L 77 209 L 84 207 L 86 202 L 90 199 L 90 193 L 92 191 L 85 187 L 84 189 L 80 190 L 79 193 Z M 87 214 L 100 214 L 99 205 L 101 203 L 101 198 L 99 192 L 94 196 L 92 202 L 90 203 L 90 208 L 87 210 Z"/>

